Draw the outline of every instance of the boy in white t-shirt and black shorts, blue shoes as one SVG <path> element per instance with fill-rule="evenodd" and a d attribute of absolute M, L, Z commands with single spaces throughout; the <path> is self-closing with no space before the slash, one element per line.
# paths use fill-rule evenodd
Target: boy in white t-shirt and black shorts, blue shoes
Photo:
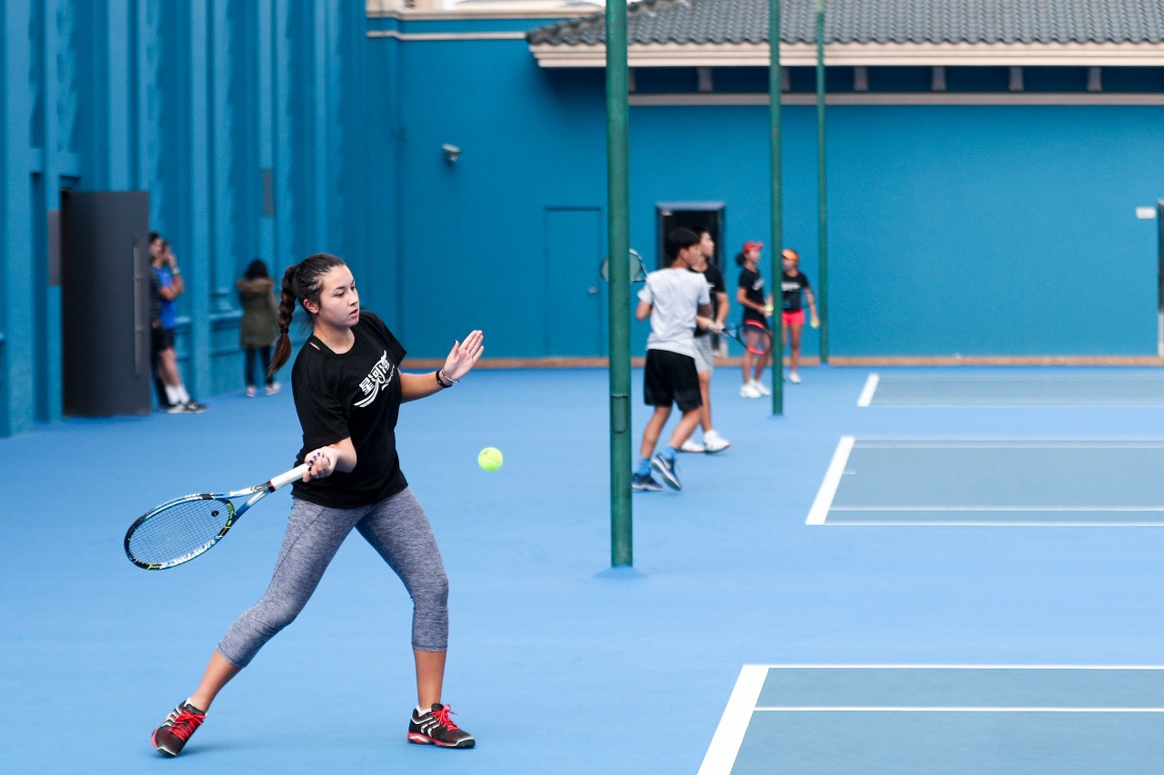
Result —
<path fill-rule="evenodd" d="M 647 406 L 654 406 L 654 414 L 643 429 L 639 462 L 631 479 L 631 488 L 640 491 L 662 489 L 651 476 L 652 468 L 659 471 L 667 486 L 682 489 L 675 471 L 675 453 L 698 425 L 700 407 L 703 405 L 700 376 L 695 370 L 693 335 L 696 326 L 714 326 L 708 284 L 702 275 L 690 271 L 702 257 L 700 235 L 690 229 L 674 229 L 667 235 L 665 251 L 670 266 L 647 275 L 634 311 L 639 320 L 651 318 L 643 400 Z M 672 403 L 683 415 L 668 446 L 655 455 L 655 443 L 670 417 Z"/>

